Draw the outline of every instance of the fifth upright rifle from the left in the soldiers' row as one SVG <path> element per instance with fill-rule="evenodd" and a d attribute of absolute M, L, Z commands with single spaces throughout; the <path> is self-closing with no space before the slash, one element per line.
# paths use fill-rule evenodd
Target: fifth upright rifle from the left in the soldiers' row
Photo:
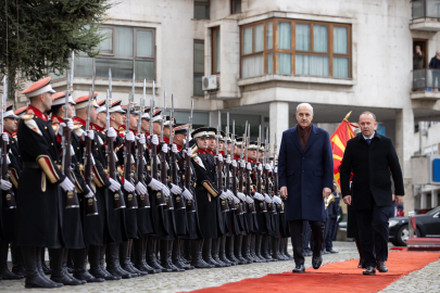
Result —
<path fill-rule="evenodd" d="M 135 101 L 135 74 L 133 74 L 133 86 L 131 93 L 128 93 L 128 106 L 127 106 L 127 124 L 126 124 L 126 135 L 130 131 L 130 116 L 131 116 L 131 104 Z M 131 146 L 133 142 L 125 140 L 124 145 L 124 180 L 131 182 Z M 127 194 L 127 208 L 138 208 L 138 203 L 136 201 L 136 193 L 128 192 Z"/>

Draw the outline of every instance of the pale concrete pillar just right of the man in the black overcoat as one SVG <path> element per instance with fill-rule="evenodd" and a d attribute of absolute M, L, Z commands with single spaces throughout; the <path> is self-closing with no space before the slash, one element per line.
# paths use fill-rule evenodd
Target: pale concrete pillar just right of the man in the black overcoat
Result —
<path fill-rule="evenodd" d="M 410 106 L 395 111 L 395 141 L 394 146 L 403 173 L 405 188 L 404 211 L 414 211 L 413 181 L 411 178 L 411 156 L 413 155 L 412 143 L 414 139 L 414 113 Z M 400 195 L 400 194 L 395 194 Z"/>

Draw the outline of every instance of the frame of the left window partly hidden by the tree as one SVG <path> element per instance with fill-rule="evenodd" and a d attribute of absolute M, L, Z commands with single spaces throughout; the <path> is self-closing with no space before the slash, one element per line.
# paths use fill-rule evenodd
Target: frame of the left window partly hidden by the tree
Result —
<path fill-rule="evenodd" d="M 133 29 L 133 56 L 127 58 L 127 56 L 116 56 L 116 28 L 117 27 L 128 27 Z M 100 28 L 112 28 L 113 35 L 112 35 L 112 43 L 113 43 L 113 53 L 112 54 L 98 54 L 95 58 L 92 58 L 92 68 L 96 67 L 96 59 L 112 59 L 112 60 L 131 60 L 133 61 L 133 72 L 136 72 L 136 61 L 152 61 L 153 62 L 153 79 L 155 80 L 156 78 L 156 44 L 155 44 L 155 38 L 156 38 L 156 31 L 155 28 L 153 27 L 139 27 L 139 26 L 125 26 L 125 25 L 101 25 Z M 143 31 L 151 31 L 152 33 L 152 56 L 149 58 L 143 58 L 143 56 L 138 56 L 138 48 L 137 48 L 137 36 L 138 31 L 143 30 Z M 85 56 L 88 58 L 87 54 L 80 53 L 79 56 Z M 76 68 L 77 62 L 75 60 L 75 75 L 77 75 L 77 68 Z M 89 76 L 81 76 L 81 77 L 89 77 Z M 131 78 L 115 78 L 118 80 L 131 80 Z M 137 79 L 136 80 L 143 80 L 143 79 Z"/>

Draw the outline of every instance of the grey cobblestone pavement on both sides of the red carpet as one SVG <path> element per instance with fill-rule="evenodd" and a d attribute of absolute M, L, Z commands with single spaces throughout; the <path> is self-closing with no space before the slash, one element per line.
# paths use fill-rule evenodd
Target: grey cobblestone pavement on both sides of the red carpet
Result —
<path fill-rule="evenodd" d="M 354 242 L 334 242 L 334 249 L 338 254 L 324 255 L 324 264 L 344 262 L 357 258 Z M 290 247 L 291 253 L 291 247 Z M 305 267 L 311 268 L 311 257 L 306 257 Z M 227 282 L 236 282 L 247 278 L 260 278 L 267 273 L 291 271 L 293 260 L 274 262 L 266 264 L 251 264 L 216 269 L 196 269 L 186 272 L 168 272 L 149 275 L 142 278 L 134 278 L 121 281 L 106 281 L 80 286 L 63 286 L 56 292 L 185 292 L 196 289 L 217 286 Z M 307 269 L 307 270 L 310 270 Z M 313 269 L 312 269 L 313 270 Z M 362 270 L 359 269 L 360 273 Z M 419 271 L 410 273 L 390 284 L 381 292 L 435 292 L 440 288 L 440 260 L 432 263 Z M 0 281 L 0 292 L 52 292 L 50 290 L 25 290 L 24 280 Z M 53 290 L 53 292 L 55 292 Z"/>

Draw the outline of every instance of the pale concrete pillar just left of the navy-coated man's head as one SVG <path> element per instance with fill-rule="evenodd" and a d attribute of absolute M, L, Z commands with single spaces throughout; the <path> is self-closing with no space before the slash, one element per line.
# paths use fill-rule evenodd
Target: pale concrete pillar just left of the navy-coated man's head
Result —
<path fill-rule="evenodd" d="M 269 104 L 269 130 L 271 141 L 275 141 L 277 135 L 278 150 L 281 143 L 282 131 L 289 128 L 289 103 L 271 102 Z"/>

